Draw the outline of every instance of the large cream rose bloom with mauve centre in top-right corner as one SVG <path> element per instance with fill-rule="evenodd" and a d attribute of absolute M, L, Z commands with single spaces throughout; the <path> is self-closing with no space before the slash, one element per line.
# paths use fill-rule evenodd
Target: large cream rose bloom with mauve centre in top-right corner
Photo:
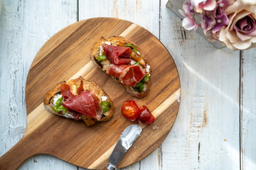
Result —
<path fill-rule="evenodd" d="M 256 47 L 256 0 L 237 0 L 224 12 L 230 22 L 216 38 L 233 50 Z"/>

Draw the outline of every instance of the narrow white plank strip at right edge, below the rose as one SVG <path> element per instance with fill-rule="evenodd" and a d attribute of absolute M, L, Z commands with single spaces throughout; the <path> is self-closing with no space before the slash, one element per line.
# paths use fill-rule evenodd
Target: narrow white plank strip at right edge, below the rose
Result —
<path fill-rule="evenodd" d="M 256 49 L 242 52 L 241 169 L 256 169 Z"/>

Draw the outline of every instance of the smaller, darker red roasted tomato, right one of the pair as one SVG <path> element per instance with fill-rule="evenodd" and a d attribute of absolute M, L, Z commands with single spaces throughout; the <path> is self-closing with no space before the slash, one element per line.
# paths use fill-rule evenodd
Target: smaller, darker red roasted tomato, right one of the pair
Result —
<path fill-rule="evenodd" d="M 151 114 L 146 106 L 139 108 L 138 122 L 146 125 L 154 122 L 154 115 Z"/>

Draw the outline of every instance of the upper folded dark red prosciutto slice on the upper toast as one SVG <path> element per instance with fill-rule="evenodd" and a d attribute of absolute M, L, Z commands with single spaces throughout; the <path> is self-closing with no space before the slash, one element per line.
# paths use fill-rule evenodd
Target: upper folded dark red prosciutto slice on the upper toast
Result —
<path fill-rule="evenodd" d="M 114 45 L 102 44 L 103 50 L 107 57 L 107 60 L 111 64 L 129 64 L 131 59 L 132 50 L 130 47 L 119 47 Z"/>

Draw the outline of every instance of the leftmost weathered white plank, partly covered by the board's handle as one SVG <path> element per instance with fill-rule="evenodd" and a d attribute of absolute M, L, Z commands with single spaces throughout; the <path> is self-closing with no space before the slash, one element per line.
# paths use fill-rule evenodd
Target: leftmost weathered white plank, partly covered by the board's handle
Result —
<path fill-rule="evenodd" d="M 77 21 L 77 1 L 3 1 L 0 19 L 0 154 L 26 128 L 28 69 L 48 38 Z M 77 169 L 52 156 L 28 159 L 21 169 Z"/>

